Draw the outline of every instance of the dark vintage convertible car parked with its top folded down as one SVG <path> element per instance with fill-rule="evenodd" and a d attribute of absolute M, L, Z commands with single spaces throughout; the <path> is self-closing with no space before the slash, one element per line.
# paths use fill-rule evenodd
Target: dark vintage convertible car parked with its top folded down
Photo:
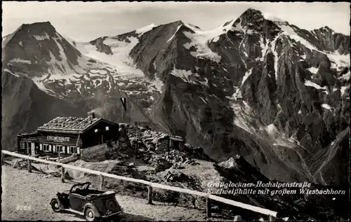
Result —
<path fill-rule="evenodd" d="M 71 190 L 58 192 L 51 200 L 53 211 L 71 211 L 85 216 L 87 221 L 116 216 L 123 212 L 116 192 L 89 189 L 91 183 L 78 183 Z"/>

